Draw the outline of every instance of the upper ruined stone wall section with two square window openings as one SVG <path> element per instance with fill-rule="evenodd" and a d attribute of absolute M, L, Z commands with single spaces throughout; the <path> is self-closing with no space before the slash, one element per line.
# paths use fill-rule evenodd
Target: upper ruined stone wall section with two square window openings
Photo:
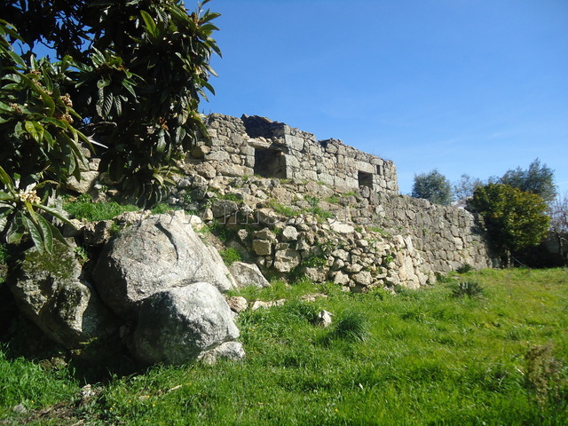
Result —
<path fill-rule="evenodd" d="M 398 193 L 393 162 L 363 153 L 340 140 L 317 140 L 264 117 L 209 114 L 210 140 L 193 150 L 205 174 L 259 175 L 321 182 L 349 192 L 367 186 L 377 193 Z"/>

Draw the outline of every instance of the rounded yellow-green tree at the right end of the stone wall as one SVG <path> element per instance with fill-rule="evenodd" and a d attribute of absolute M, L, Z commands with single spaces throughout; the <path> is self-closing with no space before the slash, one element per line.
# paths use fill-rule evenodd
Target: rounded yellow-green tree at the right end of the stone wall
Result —
<path fill-rule="evenodd" d="M 503 264 L 509 264 L 511 253 L 539 244 L 548 232 L 546 202 L 540 195 L 513 186 L 478 187 L 468 201 L 468 209 L 483 217 L 493 249 Z"/>

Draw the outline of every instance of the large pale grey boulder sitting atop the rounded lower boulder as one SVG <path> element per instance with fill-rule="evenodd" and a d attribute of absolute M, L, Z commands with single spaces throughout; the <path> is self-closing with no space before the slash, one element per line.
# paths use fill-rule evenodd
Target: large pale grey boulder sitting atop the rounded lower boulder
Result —
<path fill-rule="evenodd" d="M 168 288 L 197 281 L 220 291 L 236 287 L 217 250 L 201 241 L 183 212 L 126 228 L 103 249 L 92 276 L 105 303 L 125 319 L 134 319 L 141 301 Z"/>

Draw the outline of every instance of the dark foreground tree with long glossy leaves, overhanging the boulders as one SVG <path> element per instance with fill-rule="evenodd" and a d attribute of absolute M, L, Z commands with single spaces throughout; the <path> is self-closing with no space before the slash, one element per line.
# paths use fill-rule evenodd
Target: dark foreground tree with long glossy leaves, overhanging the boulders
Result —
<path fill-rule="evenodd" d="M 176 161 L 205 134 L 198 105 L 213 92 L 209 59 L 220 54 L 207 3 L 188 13 L 180 0 L 3 2 L 2 236 L 32 234 L 33 211 L 80 177 L 85 146 L 97 146 L 100 170 L 122 193 L 161 199 Z M 36 59 L 37 43 L 58 59 Z M 29 205 L 18 195 L 32 192 Z"/>

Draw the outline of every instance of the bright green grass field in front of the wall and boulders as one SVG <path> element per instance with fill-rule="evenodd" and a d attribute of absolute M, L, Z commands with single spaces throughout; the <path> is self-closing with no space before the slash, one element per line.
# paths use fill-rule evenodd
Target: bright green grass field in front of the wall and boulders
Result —
<path fill-rule="evenodd" d="M 74 405 L 83 383 L 71 371 L 0 357 L 0 414 L 21 419 L 30 413 L 19 417 L 12 406 L 60 403 L 75 410 L 72 420 L 47 414 L 36 424 L 568 424 L 568 272 L 480 271 L 448 281 L 396 295 L 307 281 L 233 290 L 288 300 L 241 313 L 245 360 L 113 376 L 89 406 Z M 455 297 L 460 281 L 477 282 L 483 297 Z M 314 291 L 327 298 L 299 299 Z M 312 325 L 321 309 L 335 314 L 332 327 Z"/>

